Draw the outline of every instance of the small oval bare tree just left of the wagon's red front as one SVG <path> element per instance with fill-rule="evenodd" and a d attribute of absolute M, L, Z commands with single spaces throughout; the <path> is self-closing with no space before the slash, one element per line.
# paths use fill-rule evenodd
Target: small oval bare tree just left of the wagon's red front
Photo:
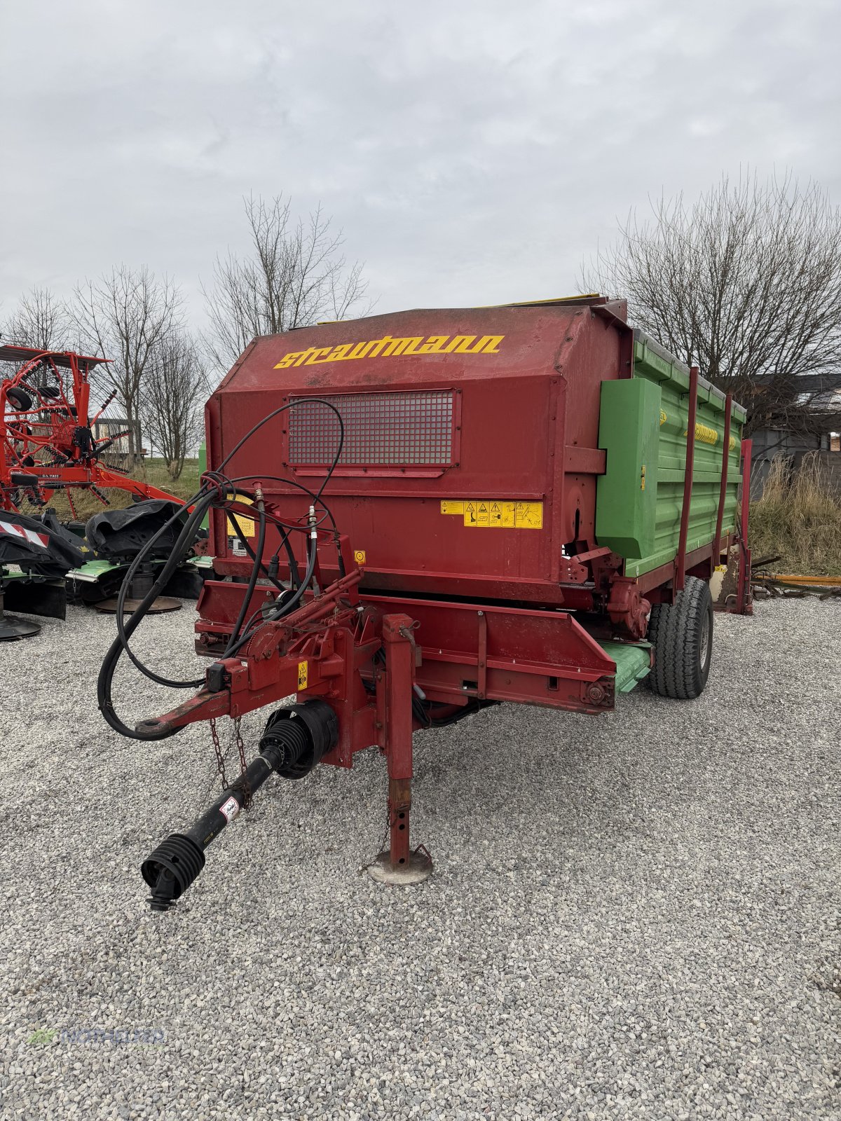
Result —
<path fill-rule="evenodd" d="M 200 353 L 187 332 L 170 332 L 155 348 L 144 382 L 140 416 L 170 479 L 181 475 L 202 430 L 207 378 Z"/>

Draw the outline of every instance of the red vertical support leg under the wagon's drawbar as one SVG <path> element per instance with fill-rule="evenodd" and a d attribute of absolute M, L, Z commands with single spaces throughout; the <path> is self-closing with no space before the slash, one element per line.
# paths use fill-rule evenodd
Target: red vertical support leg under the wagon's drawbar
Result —
<path fill-rule="evenodd" d="M 388 824 L 390 864 L 409 862 L 412 809 L 412 691 L 415 683 L 415 643 L 408 615 L 382 617 L 386 654 L 386 758 L 388 760 Z"/>

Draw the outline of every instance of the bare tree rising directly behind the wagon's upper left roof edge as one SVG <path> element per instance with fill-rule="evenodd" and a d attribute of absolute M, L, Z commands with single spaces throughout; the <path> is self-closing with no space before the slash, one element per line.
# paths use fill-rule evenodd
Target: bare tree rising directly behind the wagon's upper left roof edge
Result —
<path fill-rule="evenodd" d="M 249 197 L 244 205 L 251 254 L 216 257 L 213 287 L 202 289 L 211 355 L 225 370 L 257 335 L 341 319 L 368 288 L 362 266 L 348 263 L 341 231 L 333 232 L 321 207 L 295 221 L 281 196 L 270 203 Z"/>

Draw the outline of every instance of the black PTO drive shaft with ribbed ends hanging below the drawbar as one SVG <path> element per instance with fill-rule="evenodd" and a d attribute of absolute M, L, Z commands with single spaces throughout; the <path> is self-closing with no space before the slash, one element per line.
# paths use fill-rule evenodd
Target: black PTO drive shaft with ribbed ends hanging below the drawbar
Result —
<path fill-rule="evenodd" d="M 299 779 L 339 742 L 339 720 L 324 701 L 278 708 L 266 724 L 260 754 L 185 833 L 173 833 L 140 865 L 155 911 L 175 906 L 204 868 L 204 851 L 271 773 Z"/>

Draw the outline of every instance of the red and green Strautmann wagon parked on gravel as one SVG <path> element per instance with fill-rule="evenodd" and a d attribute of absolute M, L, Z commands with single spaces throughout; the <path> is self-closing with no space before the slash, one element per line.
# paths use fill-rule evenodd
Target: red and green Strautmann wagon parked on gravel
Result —
<path fill-rule="evenodd" d="M 191 515 L 213 510 L 206 674 L 169 683 L 196 689 L 172 712 L 119 719 L 111 677 L 142 604 L 100 674 L 105 719 L 138 739 L 274 706 L 257 758 L 144 863 L 153 907 L 272 773 L 378 747 L 390 843 L 371 873 L 412 882 L 432 867 L 409 841 L 413 731 L 502 701 L 603 713 L 646 676 L 697 696 L 733 545 L 731 609 L 749 610 L 743 420 L 601 297 L 255 340 L 207 404 Z"/>

